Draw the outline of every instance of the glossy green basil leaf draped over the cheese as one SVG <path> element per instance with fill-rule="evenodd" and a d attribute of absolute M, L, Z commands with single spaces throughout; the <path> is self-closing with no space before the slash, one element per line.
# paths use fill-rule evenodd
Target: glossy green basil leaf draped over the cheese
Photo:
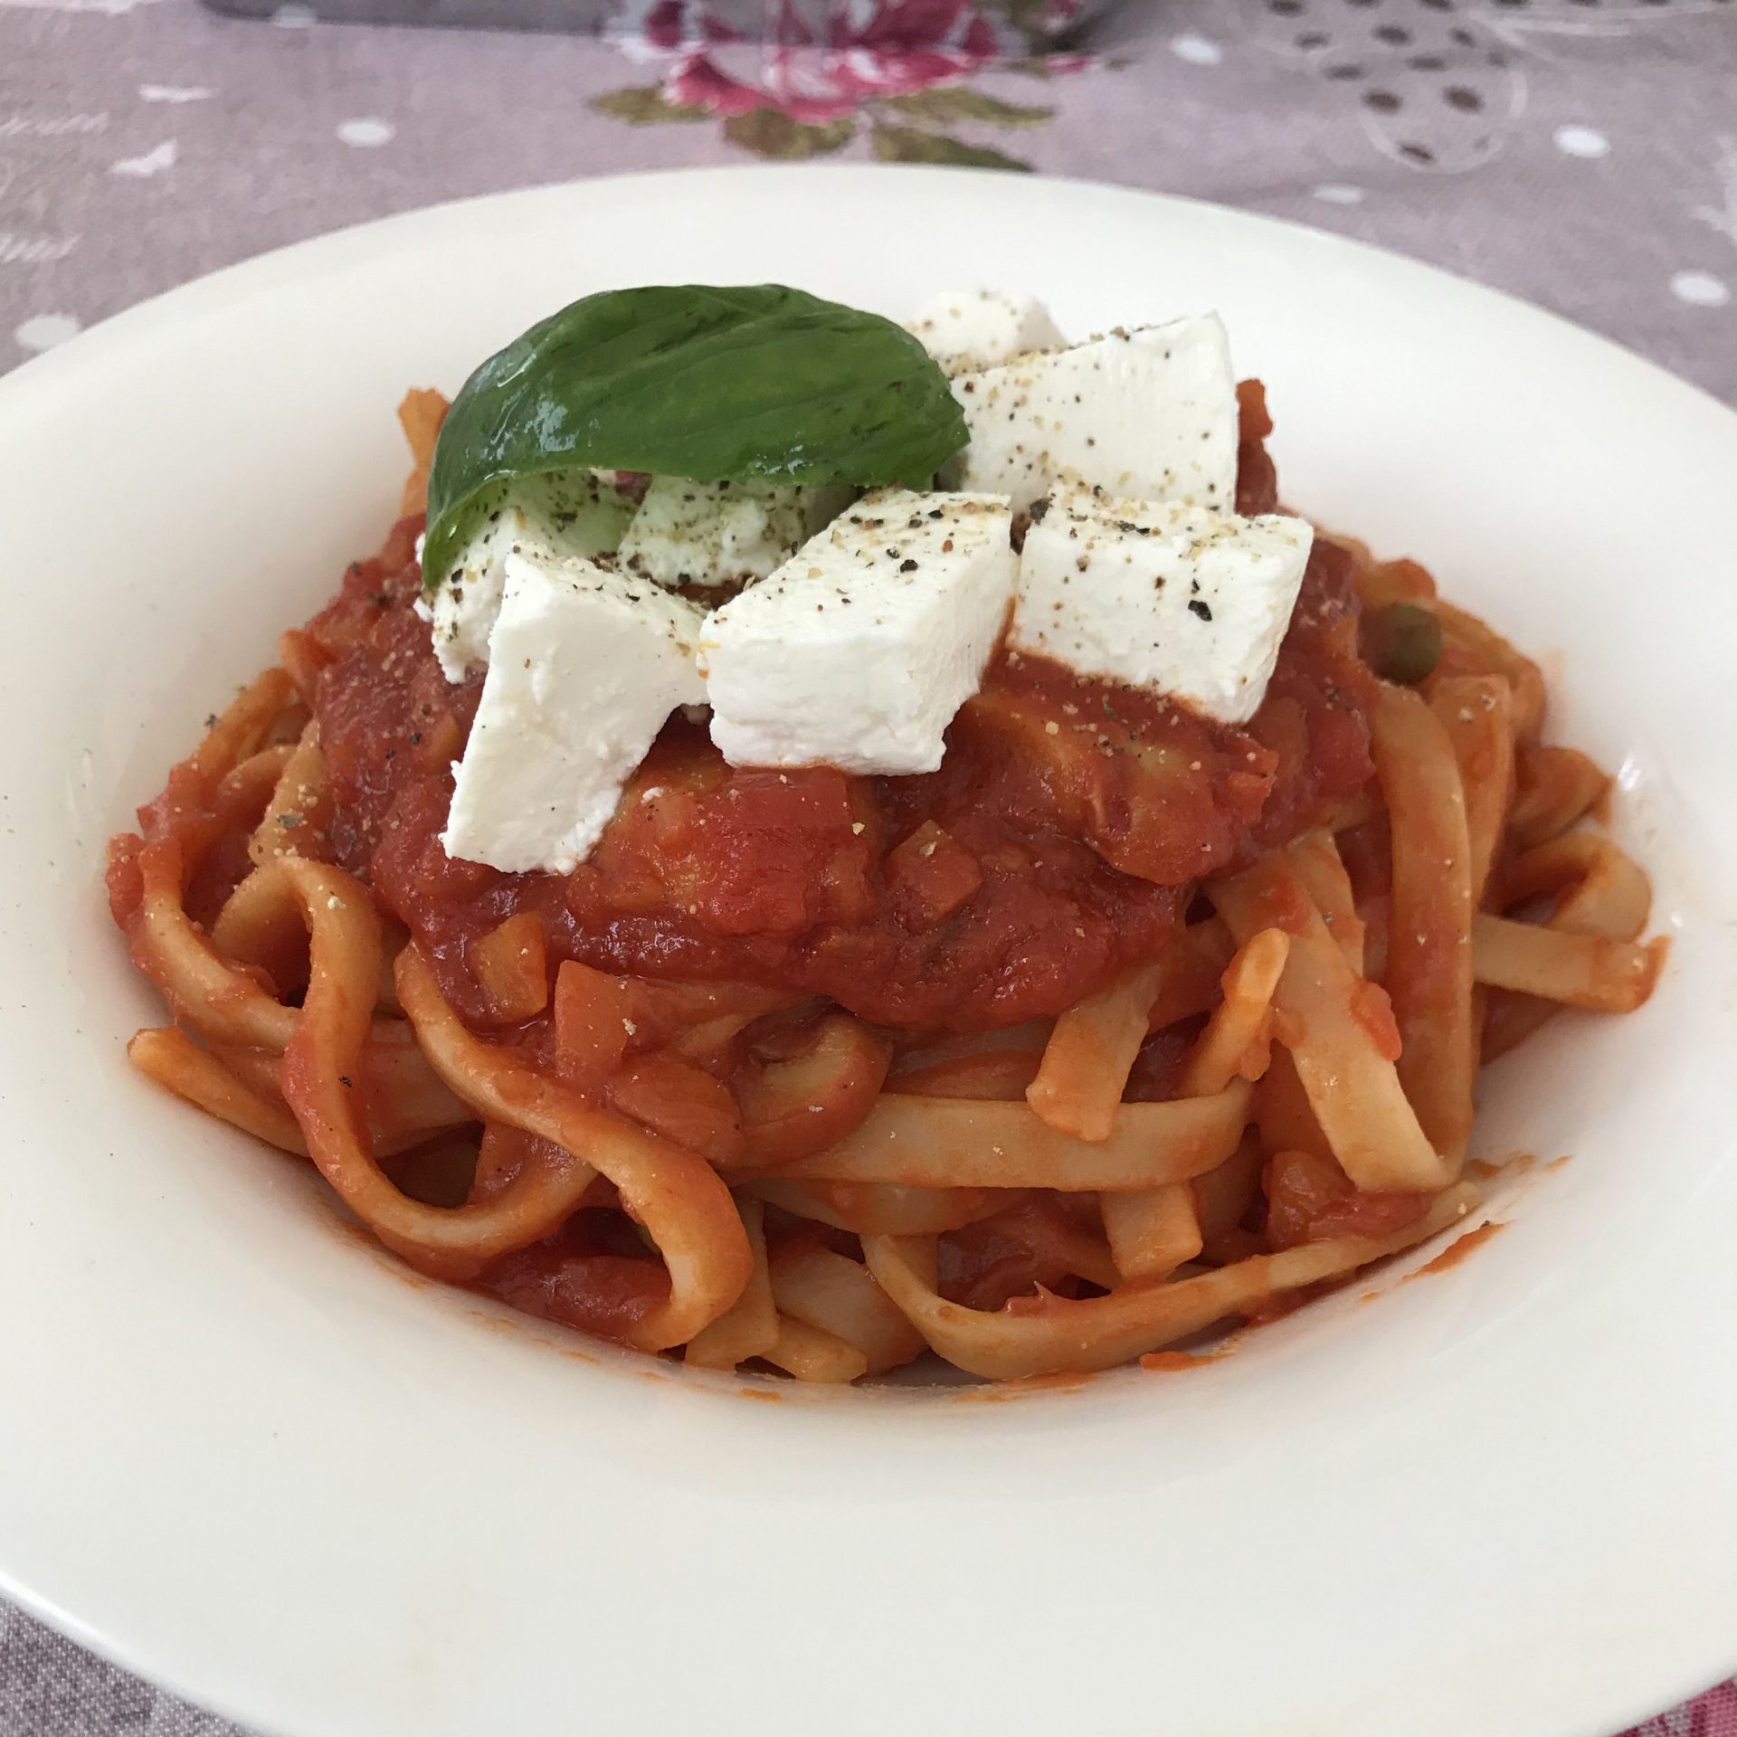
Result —
<path fill-rule="evenodd" d="M 439 584 L 502 485 L 547 471 L 924 488 L 964 443 L 947 375 L 879 314 L 778 283 L 606 290 L 464 382 L 422 573 Z"/>

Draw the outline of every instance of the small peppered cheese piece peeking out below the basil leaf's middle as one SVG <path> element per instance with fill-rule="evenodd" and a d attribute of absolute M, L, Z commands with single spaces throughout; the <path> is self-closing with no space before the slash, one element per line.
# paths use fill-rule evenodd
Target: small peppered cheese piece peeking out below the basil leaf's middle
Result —
<path fill-rule="evenodd" d="M 622 537 L 622 566 L 660 585 L 766 578 L 849 499 L 848 488 L 655 476 Z"/>

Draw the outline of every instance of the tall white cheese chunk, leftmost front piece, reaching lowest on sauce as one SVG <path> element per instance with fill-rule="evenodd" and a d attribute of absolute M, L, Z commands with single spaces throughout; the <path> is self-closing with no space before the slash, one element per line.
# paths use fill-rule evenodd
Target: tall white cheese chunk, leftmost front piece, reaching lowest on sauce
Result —
<path fill-rule="evenodd" d="M 512 554 L 441 844 L 492 868 L 570 874 L 677 705 L 705 686 L 702 613 L 594 561 Z"/>

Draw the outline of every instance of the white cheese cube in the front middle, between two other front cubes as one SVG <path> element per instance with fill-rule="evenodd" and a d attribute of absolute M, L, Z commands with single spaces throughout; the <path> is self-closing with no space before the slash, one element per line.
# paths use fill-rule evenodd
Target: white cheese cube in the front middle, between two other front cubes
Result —
<path fill-rule="evenodd" d="M 707 622 L 712 740 L 733 766 L 935 771 L 1007 618 L 1001 495 L 882 490 Z"/>

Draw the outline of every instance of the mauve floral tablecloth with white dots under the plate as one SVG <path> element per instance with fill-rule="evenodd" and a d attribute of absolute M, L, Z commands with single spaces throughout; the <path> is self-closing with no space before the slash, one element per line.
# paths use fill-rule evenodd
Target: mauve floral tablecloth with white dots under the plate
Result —
<path fill-rule="evenodd" d="M 764 0 L 763 30 L 740 0 L 608 10 L 603 35 L 530 36 L 334 24 L 302 0 L 266 21 L 0 0 L 0 370 L 217 266 L 434 200 L 872 158 L 1318 224 L 1737 401 L 1737 0 L 1124 0 L 1063 54 L 1034 54 L 1034 26 L 1068 0 Z M 0 1732 L 236 1727 L 0 1605 Z M 1737 1737 L 1737 1685 L 1640 1734 Z"/>

